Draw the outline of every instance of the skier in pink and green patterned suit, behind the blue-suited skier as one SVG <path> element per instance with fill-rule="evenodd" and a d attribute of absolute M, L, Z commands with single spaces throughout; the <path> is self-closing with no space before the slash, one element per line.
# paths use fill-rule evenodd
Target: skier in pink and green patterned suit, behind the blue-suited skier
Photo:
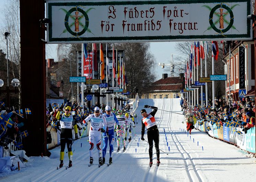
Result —
<path fill-rule="evenodd" d="M 121 109 L 118 110 L 118 116 L 116 116 L 117 120 L 119 121 L 120 129 L 117 129 L 117 125 L 115 123 L 115 129 L 117 133 L 117 152 L 120 150 L 120 139 L 122 139 L 123 145 L 124 145 L 124 151 L 125 148 L 125 127 L 127 124 L 126 117 L 123 115 L 123 112 Z"/>

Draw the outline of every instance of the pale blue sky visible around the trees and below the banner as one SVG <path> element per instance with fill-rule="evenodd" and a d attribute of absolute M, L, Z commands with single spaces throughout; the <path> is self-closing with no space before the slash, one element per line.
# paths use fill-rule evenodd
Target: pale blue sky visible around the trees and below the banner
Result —
<path fill-rule="evenodd" d="M 8 0 L 0 0 L 0 9 L 4 9 L 5 2 L 8 2 Z M 3 11 L 0 12 L 0 27 L 4 21 L 2 12 Z M 169 64 L 171 60 L 171 53 L 179 54 L 174 48 L 175 43 L 176 42 L 151 42 L 150 51 L 154 54 L 156 59 L 155 73 L 157 80 L 162 78 L 163 73 L 167 73 L 161 68 L 161 66 L 158 66 L 158 63 L 161 62 Z M 0 45 L 2 45 L 2 42 Z M 48 49 L 48 47 L 51 49 Z M 57 44 L 50 44 L 48 47 L 46 47 L 46 58 L 54 58 L 54 60 L 57 60 Z M 170 71 L 168 71 L 168 74 L 170 74 Z"/>

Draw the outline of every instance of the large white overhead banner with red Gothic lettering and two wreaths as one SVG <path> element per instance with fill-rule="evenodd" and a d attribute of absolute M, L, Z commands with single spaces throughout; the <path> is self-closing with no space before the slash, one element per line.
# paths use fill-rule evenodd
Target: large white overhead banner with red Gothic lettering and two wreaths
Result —
<path fill-rule="evenodd" d="M 250 0 L 47 0 L 47 43 L 252 40 Z"/>

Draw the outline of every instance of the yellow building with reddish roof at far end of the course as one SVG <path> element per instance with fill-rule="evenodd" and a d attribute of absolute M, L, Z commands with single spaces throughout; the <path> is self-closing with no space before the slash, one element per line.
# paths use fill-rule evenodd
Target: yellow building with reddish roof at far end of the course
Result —
<path fill-rule="evenodd" d="M 179 77 L 168 77 L 163 74 L 163 78 L 151 84 L 151 87 L 142 93 L 142 99 L 163 99 L 181 97 L 180 91 L 185 86 L 184 74 Z"/>

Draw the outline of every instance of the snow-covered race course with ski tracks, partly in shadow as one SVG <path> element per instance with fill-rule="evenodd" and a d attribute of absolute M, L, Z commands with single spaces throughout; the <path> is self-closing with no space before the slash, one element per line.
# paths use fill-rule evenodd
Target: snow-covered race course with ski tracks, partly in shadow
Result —
<path fill-rule="evenodd" d="M 160 151 L 159 167 L 156 167 L 153 148 L 154 164 L 149 168 L 149 145 L 146 141 L 139 140 L 142 118 L 140 109 L 146 104 L 159 108 L 155 115 L 160 132 L 159 148 L 168 154 Z M 148 113 L 150 111 L 151 109 L 147 109 Z M 106 164 L 100 168 L 98 165 L 88 167 L 89 143 L 88 137 L 85 137 L 75 141 L 72 146 L 72 150 L 75 149 L 72 168 L 56 170 L 60 152 L 60 147 L 56 147 L 50 151 L 50 158 L 31 157 L 33 161 L 28 163 L 28 167 L 0 174 L 0 181 L 255 181 L 255 158 L 247 158 L 246 152 L 213 139 L 205 132 L 194 129 L 188 135 L 183 131 L 186 130 L 186 124 L 182 124 L 184 116 L 181 115 L 179 99 L 140 99 L 135 112 L 139 122 L 135 133 L 132 131 L 134 139 L 129 144 L 127 142 L 125 152 L 117 153 L 114 142 L 113 164 L 109 167 Z M 147 134 L 144 138 L 147 140 Z M 97 164 L 97 159 L 94 148 L 94 164 Z M 106 161 L 108 159 L 109 152 L 106 154 Z M 66 153 L 64 165 L 68 165 Z"/>

